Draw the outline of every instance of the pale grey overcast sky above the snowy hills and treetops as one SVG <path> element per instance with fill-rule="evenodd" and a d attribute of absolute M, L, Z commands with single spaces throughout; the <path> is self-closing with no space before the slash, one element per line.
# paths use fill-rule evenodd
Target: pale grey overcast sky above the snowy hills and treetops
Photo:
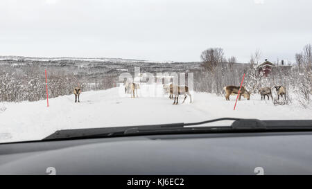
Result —
<path fill-rule="evenodd" d="M 312 44 L 311 0 L 1 0 L 0 55 L 248 62 Z"/>

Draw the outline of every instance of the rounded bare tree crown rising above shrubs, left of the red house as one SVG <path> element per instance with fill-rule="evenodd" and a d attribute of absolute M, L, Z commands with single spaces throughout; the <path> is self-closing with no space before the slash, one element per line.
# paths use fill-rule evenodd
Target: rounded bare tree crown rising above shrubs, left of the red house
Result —
<path fill-rule="evenodd" d="M 214 68 L 225 60 L 223 48 L 208 48 L 202 51 L 200 55 L 201 66 L 207 71 L 213 71 Z"/>

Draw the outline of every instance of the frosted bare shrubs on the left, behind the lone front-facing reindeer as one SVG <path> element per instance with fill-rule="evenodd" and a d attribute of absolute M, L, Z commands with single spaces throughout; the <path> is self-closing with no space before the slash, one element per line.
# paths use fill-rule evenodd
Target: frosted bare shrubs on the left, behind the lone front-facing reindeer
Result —
<path fill-rule="evenodd" d="M 44 67 L 38 65 L 22 66 L 19 69 L 1 65 L 0 102 L 37 101 L 46 99 Z M 49 98 L 69 95 L 77 84 L 83 91 L 108 89 L 114 87 L 115 77 L 101 75 L 88 77 L 78 74 L 77 69 L 49 68 Z"/>

